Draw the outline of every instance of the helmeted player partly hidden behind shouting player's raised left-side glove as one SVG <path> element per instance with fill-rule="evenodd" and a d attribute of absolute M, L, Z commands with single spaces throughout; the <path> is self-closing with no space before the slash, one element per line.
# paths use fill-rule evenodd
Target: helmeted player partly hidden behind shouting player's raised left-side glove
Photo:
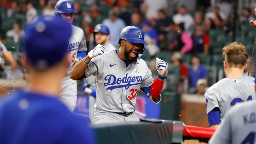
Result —
<path fill-rule="evenodd" d="M 94 40 L 96 44 L 103 45 L 105 47 L 105 52 L 116 50 L 114 45 L 112 45 L 108 40 L 110 38 L 110 32 L 106 25 L 98 24 L 94 28 Z M 89 95 L 89 114 L 91 123 L 93 123 L 94 118 L 94 105 L 96 103 L 96 89 L 95 89 L 95 77 L 90 76 L 86 79 L 84 85 L 82 86 L 82 91 Z"/>

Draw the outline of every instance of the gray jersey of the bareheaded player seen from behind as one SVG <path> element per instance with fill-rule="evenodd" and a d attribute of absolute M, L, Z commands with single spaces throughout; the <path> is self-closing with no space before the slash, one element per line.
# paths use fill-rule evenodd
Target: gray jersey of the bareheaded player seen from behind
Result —
<path fill-rule="evenodd" d="M 249 76 L 224 78 L 212 85 L 204 94 L 207 114 L 218 107 L 222 120 L 233 105 L 255 99 L 254 80 Z"/>

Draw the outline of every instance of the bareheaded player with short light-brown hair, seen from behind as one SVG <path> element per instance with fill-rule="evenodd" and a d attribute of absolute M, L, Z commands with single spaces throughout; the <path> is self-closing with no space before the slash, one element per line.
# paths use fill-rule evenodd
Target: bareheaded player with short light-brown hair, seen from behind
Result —
<path fill-rule="evenodd" d="M 222 56 L 226 78 L 212 85 L 204 95 L 209 127 L 213 129 L 218 128 L 233 105 L 256 98 L 254 78 L 243 76 L 248 60 L 245 46 L 233 42 L 223 48 Z"/>

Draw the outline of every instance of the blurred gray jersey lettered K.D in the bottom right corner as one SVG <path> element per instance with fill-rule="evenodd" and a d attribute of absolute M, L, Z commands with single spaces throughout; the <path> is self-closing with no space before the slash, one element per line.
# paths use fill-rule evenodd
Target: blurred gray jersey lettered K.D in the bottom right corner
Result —
<path fill-rule="evenodd" d="M 255 144 L 256 102 L 234 106 L 213 134 L 209 144 Z"/>

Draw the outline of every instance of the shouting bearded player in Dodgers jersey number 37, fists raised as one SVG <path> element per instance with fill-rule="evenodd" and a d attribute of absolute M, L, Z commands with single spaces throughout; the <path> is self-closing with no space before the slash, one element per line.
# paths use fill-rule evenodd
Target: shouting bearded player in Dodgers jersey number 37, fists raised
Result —
<path fill-rule="evenodd" d="M 168 64 L 156 58 L 158 77 L 154 81 L 146 62 L 144 32 L 134 26 L 123 28 L 118 50 L 105 51 L 98 45 L 75 64 L 70 73 L 74 80 L 96 77 L 96 104 L 94 124 L 139 121 L 135 114 L 136 95 L 142 90 L 155 104 L 167 79 Z"/>

